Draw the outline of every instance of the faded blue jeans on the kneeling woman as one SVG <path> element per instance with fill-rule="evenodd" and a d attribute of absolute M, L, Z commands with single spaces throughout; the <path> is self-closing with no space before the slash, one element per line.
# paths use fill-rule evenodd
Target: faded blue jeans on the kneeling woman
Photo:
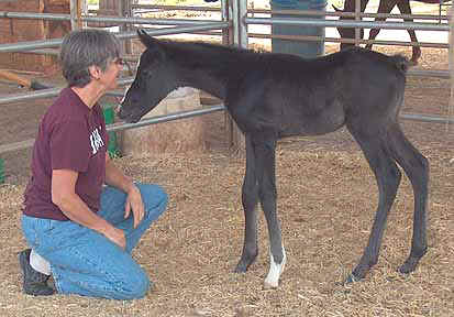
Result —
<path fill-rule="evenodd" d="M 144 297 L 150 287 L 146 272 L 131 258 L 142 234 L 166 208 L 167 194 L 157 185 L 137 184 L 145 215 L 133 228 L 133 215 L 124 219 L 126 195 L 113 187 L 101 194 L 98 215 L 123 229 L 126 249 L 104 236 L 73 221 L 22 216 L 22 230 L 31 248 L 51 263 L 59 294 L 133 299 Z"/>

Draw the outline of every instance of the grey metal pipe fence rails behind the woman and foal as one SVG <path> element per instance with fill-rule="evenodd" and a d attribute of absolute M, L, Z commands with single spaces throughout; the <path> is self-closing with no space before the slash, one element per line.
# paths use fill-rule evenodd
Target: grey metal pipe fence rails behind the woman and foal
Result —
<path fill-rule="evenodd" d="M 81 21 L 85 22 L 109 22 L 109 23 L 120 23 L 120 24 L 144 24 L 144 25 L 166 25 L 170 28 L 163 28 L 158 30 L 147 30 L 146 32 L 153 36 L 158 35 L 170 35 L 179 33 L 192 33 L 212 30 L 225 30 L 231 29 L 233 34 L 233 43 L 240 47 L 246 48 L 248 42 L 247 25 L 248 24 L 280 24 L 280 25 L 306 25 L 306 26 L 324 26 L 324 28 L 363 28 L 363 29 L 392 29 L 392 30 L 423 30 L 423 31 L 449 31 L 450 26 L 446 23 L 410 23 L 410 22 L 376 22 L 376 21 L 355 21 L 355 20 L 311 20 L 304 17 L 296 18 L 251 18 L 248 17 L 248 11 L 246 8 L 246 1 L 243 0 L 231 0 L 230 11 L 228 9 L 226 0 L 222 0 L 221 14 L 223 21 L 213 20 L 185 20 L 185 19 L 150 19 L 150 18 L 119 18 L 119 17 L 92 17 L 82 15 L 79 17 Z M 166 10 L 186 10 L 185 7 L 169 7 L 169 6 L 132 6 L 132 8 L 145 9 L 146 8 L 160 8 Z M 198 11 L 201 7 L 190 7 L 190 10 Z M 219 9 L 204 8 L 206 11 L 214 11 Z M 189 9 L 187 9 L 189 10 Z M 254 11 L 254 10 L 253 10 Z M 255 10 L 257 11 L 257 10 Z M 267 10 L 269 13 L 272 11 Z M 275 12 L 275 11 L 273 11 Z M 277 11 L 276 11 L 277 12 Z M 280 12 L 280 11 L 279 11 Z M 287 11 L 286 11 L 287 12 Z M 303 14 L 307 11 L 300 11 Z M 310 13 L 310 12 L 309 12 Z M 312 12 L 312 14 L 319 14 L 320 11 Z M 325 15 L 325 14 L 323 14 Z M 329 15 L 329 14 L 326 14 Z M 356 13 L 334 13 L 334 15 L 345 15 L 345 17 L 357 17 Z M 358 17 L 373 17 L 375 14 L 361 13 Z M 378 15 L 377 15 L 378 17 Z M 71 21 L 74 22 L 74 14 L 51 14 L 51 13 L 29 13 L 29 12 L 4 12 L 0 11 L 0 19 L 41 19 L 41 20 L 60 20 L 60 21 Z M 414 17 L 417 19 L 417 17 Z M 115 33 L 115 35 L 121 40 L 128 40 L 136 36 L 136 32 L 121 32 Z M 221 34 L 219 34 L 221 35 Z M 45 41 L 29 41 L 15 44 L 0 44 L 1 52 L 43 52 L 46 53 L 46 48 L 57 47 L 62 44 L 63 39 L 45 40 Z M 374 42 L 375 43 L 375 42 Z M 428 43 L 430 44 L 430 43 Z M 413 43 L 410 43 L 413 45 Z M 40 51 L 41 50 L 41 51 Z M 55 54 L 54 51 L 51 54 Z M 409 70 L 410 76 L 430 76 L 438 78 L 450 78 L 449 70 Z M 133 78 L 122 78 L 119 79 L 119 85 L 130 84 Z M 37 98 L 49 98 L 55 97 L 59 94 L 63 87 L 56 87 L 52 89 L 44 89 L 37 91 L 30 91 L 23 94 L 9 95 L 0 97 L 0 105 L 32 100 Z M 108 95 L 118 96 L 120 92 L 110 92 Z M 201 116 L 206 113 L 211 113 L 214 111 L 222 111 L 225 108 L 222 105 L 211 107 L 202 110 L 185 111 L 173 113 L 169 116 L 154 117 L 137 123 L 114 123 L 108 125 L 108 131 L 120 131 L 125 129 L 134 129 L 139 127 L 144 127 L 148 124 L 155 124 L 159 122 L 167 122 L 184 118 L 190 118 L 195 116 Z M 450 118 L 439 118 L 430 117 L 423 114 L 401 114 L 400 118 L 405 120 L 417 120 L 423 122 L 436 122 L 436 123 L 454 123 L 454 120 Z M 33 145 L 34 140 L 25 140 L 22 142 L 0 145 L 0 154 L 9 151 L 15 151 L 25 149 Z"/>

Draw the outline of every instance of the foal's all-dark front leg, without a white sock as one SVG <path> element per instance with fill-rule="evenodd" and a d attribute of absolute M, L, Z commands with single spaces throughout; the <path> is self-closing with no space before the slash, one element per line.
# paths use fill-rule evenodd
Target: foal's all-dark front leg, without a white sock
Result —
<path fill-rule="evenodd" d="M 257 212 L 255 208 L 258 201 L 258 184 L 256 176 L 256 160 L 251 136 L 245 135 L 246 141 L 246 172 L 242 188 L 242 203 L 245 218 L 244 244 L 241 260 L 236 265 L 236 273 L 244 273 L 255 261 L 258 254 L 257 248 Z"/>

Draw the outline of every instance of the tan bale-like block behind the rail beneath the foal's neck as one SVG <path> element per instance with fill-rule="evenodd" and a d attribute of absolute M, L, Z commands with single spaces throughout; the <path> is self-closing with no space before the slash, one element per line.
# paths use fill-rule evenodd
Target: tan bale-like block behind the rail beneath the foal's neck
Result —
<path fill-rule="evenodd" d="M 170 92 L 144 118 L 196 110 L 201 107 L 199 90 L 184 87 Z M 204 150 L 203 130 L 201 117 L 125 130 L 121 135 L 121 152 L 130 155 Z"/>

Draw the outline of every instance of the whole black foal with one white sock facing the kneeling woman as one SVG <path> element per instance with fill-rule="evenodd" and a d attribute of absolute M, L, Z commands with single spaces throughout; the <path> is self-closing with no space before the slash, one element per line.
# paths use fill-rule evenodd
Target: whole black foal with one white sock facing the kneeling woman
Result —
<path fill-rule="evenodd" d="M 399 271 L 414 270 L 427 251 L 429 163 L 403 135 L 398 121 L 408 65 L 403 57 L 354 48 L 303 59 L 203 43 L 158 41 L 144 31 L 139 31 L 139 36 L 146 50 L 123 99 L 120 118 L 136 122 L 171 90 L 190 86 L 224 100 L 245 135 L 245 237 L 236 272 L 245 272 L 258 253 L 258 201 L 269 233 L 267 287 L 278 285 L 286 263 L 276 211 L 277 140 L 324 134 L 343 125 L 363 150 L 379 190 L 367 247 L 347 282 L 363 278 L 377 263 L 386 219 L 401 178 L 397 164 L 407 173 L 414 192 L 411 251 Z"/>

